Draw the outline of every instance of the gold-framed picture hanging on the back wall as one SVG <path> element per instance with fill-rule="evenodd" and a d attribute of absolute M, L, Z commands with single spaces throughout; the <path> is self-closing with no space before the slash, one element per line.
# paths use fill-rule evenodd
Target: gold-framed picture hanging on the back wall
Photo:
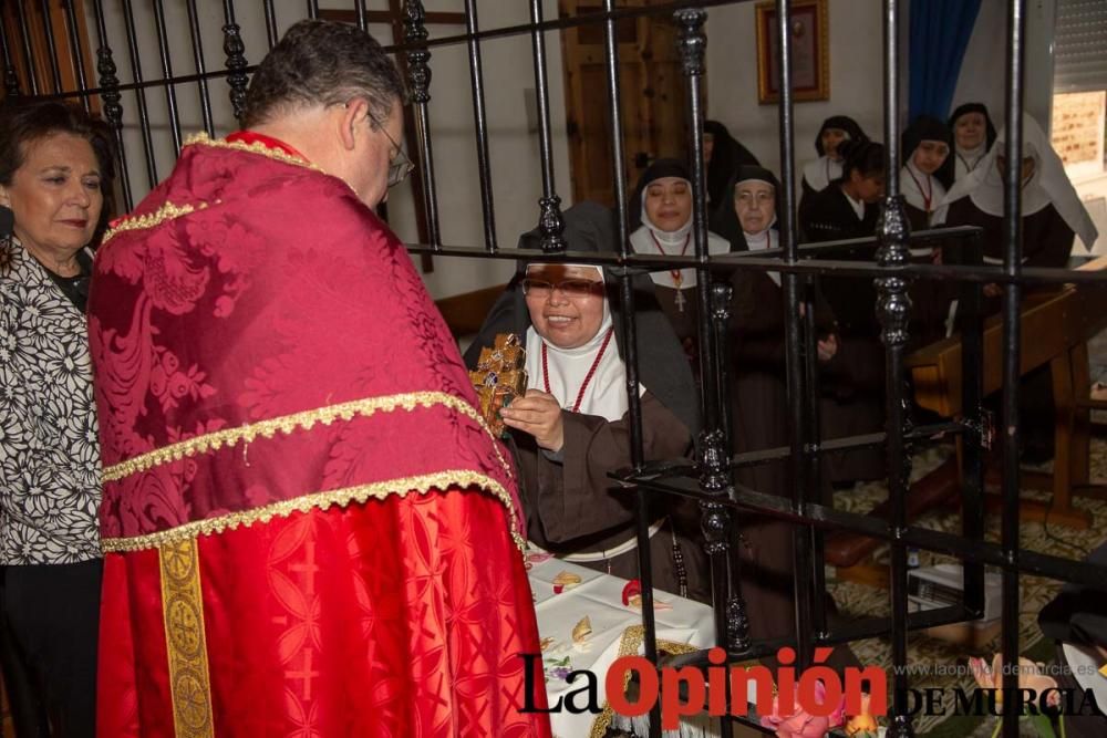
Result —
<path fill-rule="evenodd" d="M 796 102 L 830 98 L 830 46 L 827 0 L 792 3 L 792 95 Z M 758 2 L 757 100 L 762 104 L 780 98 L 777 62 L 779 30 L 775 2 Z"/>

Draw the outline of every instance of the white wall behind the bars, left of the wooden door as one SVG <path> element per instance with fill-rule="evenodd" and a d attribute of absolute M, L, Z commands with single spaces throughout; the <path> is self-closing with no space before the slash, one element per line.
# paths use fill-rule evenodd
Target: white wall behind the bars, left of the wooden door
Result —
<path fill-rule="evenodd" d="M 546 18 L 556 18 L 556 0 L 544 0 Z M 277 0 L 276 14 L 279 32 L 306 14 L 302 0 Z M 352 2 L 324 0 L 322 7 L 350 9 Z M 428 11 L 459 11 L 461 0 L 430 0 Z M 204 58 L 207 70 L 223 70 L 226 54 L 223 51 L 223 7 L 210 0 L 197 2 L 203 29 Z M 257 64 L 268 51 L 265 15 L 260 2 L 236 2 L 236 20 L 242 28 L 246 58 Z M 482 29 L 494 29 L 529 22 L 529 3 L 479 0 L 478 17 Z M 162 79 L 161 55 L 154 21 L 153 3 L 132 0 L 135 28 L 138 37 L 138 59 L 145 80 Z M 386 10 L 386 0 L 369 0 L 370 10 Z M 95 18 L 89 3 L 89 29 L 96 44 Z M 118 67 L 122 83 L 133 81 L 131 54 L 126 42 L 126 23 L 123 0 L 105 0 L 105 20 L 108 42 Z M 172 50 L 173 72 L 193 74 L 192 41 L 185 0 L 165 0 L 165 14 Z M 464 25 L 431 25 L 431 38 L 464 33 Z M 386 45 L 392 42 L 391 29 L 372 25 L 370 32 Z M 561 73 L 561 44 L 556 33 L 547 34 L 548 82 L 551 129 L 554 131 L 554 166 L 557 191 L 562 208 L 571 204 L 569 155 L 565 137 L 565 94 Z M 438 195 L 438 214 L 443 242 L 452 246 L 484 246 L 484 220 L 477 177 L 475 124 L 468 73 L 468 52 L 465 45 L 442 46 L 432 50 L 431 69 L 431 135 L 434 146 L 435 177 Z M 519 233 L 538 222 L 538 198 L 541 196 L 541 169 L 538 155 L 538 134 L 528 126 L 525 98 L 535 89 L 529 35 L 494 39 L 482 44 L 485 74 L 485 102 L 489 122 L 489 156 L 492 159 L 496 232 L 500 246 L 514 247 Z M 99 77 L 97 77 L 99 80 Z M 216 124 L 216 134 L 235 129 L 229 87 L 225 79 L 209 80 L 208 87 Z M 176 85 L 178 117 L 183 135 L 203 129 L 200 96 L 196 83 Z M 176 150 L 169 127 L 168 107 L 163 89 L 146 91 L 146 103 L 153 131 L 157 177 L 163 179 L 172 170 Z M 122 100 L 124 111 L 124 142 L 128 155 L 128 171 L 136 202 L 149 190 L 145 154 L 138 126 L 137 97 L 126 92 Z M 408 107 L 408 114 L 412 108 Z M 414 148 L 414 142 L 411 142 Z M 413 155 L 414 150 L 411 152 Z M 390 198 L 390 219 L 396 233 L 406 242 L 417 240 L 414 206 L 410 185 L 395 188 Z M 425 276 L 432 294 L 436 298 L 467 292 L 498 284 L 509 279 L 514 264 L 504 261 L 455 259 L 436 257 L 434 271 Z"/>

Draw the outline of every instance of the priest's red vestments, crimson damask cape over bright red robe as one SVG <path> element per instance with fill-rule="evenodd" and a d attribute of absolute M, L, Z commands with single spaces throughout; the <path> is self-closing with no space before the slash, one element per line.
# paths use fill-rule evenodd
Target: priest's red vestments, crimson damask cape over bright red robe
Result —
<path fill-rule="evenodd" d="M 507 451 L 345 184 L 195 141 L 89 310 L 100 736 L 549 735 Z"/>

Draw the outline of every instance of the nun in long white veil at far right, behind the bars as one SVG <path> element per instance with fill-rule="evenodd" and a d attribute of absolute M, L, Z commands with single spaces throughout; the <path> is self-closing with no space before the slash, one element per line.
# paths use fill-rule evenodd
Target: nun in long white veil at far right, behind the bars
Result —
<path fill-rule="evenodd" d="M 1006 128 L 1000 132 L 984 159 L 963 179 L 959 179 L 945 202 L 934 214 L 935 224 L 979 226 L 983 229 L 985 263 L 1003 262 L 1003 178 L 1008 162 L 1004 155 Z M 1014 164 L 1022 171 L 1023 264 L 1065 267 L 1073 251 L 1073 237 L 1079 236 L 1090 249 L 1098 232 L 1073 183 L 1065 174 L 1061 157 L 1049 145 L 1042 126 L 1023 116 L 1023 155 Z M 985 293 L 995 297 L 997 285 Z"/>

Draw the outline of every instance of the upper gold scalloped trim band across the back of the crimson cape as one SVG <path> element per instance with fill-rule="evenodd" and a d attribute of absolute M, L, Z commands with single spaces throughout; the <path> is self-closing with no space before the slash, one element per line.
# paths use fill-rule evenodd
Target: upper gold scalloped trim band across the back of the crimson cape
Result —
<path fill-rule="evenodd" d="M 237 428 L 216 430 L 215 433 L 207 433 L 203 436 L 196 436 L 194 438 L 188 438 L 187 440 L 177 441 L 176 444 L 169 444 L 168 446 L 163 446 L 162 448 L 154 449 L 153 451 L 139 454 L 138 456 L 134 456 L 126 461 L 121 461 L 106 467 L 104 469 L 104 481 L 117 481 L 130 477 L 133 474 L 146 471 L 163 464 L 179 461 L 186 456 L 195 456 L 196 454 L 206 454 L 208 451 L 219 450 L 224 446 L 232 447 L 240 440 L 245 440 L 249 444 L 259 436 L 263 438 L 272 438 L 278 430 L 289 435 L 297 429 L 310 430 L 317 423 L 331 425 L 339 419 L 351 420 L 355 415 L 369 417 L 376 412 L 391 413 L 400 408 L 410 413 L 415 409 L 416 406 L 431 408 L 435 405 L 445 405 L 446 407 L 449 407 L 451 409 L 454 409 L 475 420 L 484 429 L 484 432 L 493 438 L 493 449 L 496 453 L 496 458 L 499 459 L 499 462 L 503 465 L 504 471 L 507 474 L 508 478 L 511 477 L 511 467 L 507 460 L 504 459 L 503 454 L 500 454 L 499 446 L 495 443 L 496 437 L 488 428 L 488 425 L 484 422 L 484 418 L 480 417 L 480 414 L 477 413 L 472 405 L 459 397 L 448 395 L 444 392 L 408 392 L 399 395 L 387 395 L 384 397 L 354 399 L 339 405 L 328 405 L 312 410 L 303 410 L 302 413 L 293 413 L 292 415 L 282 415 L 268 420 L 250 423 Z"/>

